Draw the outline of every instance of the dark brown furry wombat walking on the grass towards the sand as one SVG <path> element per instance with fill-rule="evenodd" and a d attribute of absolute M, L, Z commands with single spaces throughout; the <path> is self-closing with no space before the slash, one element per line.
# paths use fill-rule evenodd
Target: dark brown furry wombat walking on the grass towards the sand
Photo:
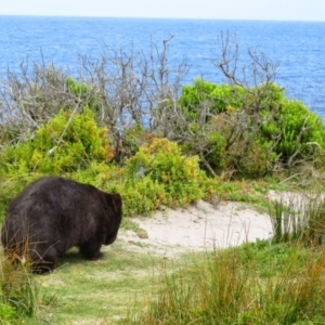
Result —
<path fill-rule="evenodd" d="M 1 231 L 4 252 L 21 258 L 27 247 L 36 273 L 52 271 L 73 246 L 96 260 L 103 256 L 102 245 L 116 239 L 121 209 L 119 194 L 60 177 L 41 178 L 9 206 Z"/>

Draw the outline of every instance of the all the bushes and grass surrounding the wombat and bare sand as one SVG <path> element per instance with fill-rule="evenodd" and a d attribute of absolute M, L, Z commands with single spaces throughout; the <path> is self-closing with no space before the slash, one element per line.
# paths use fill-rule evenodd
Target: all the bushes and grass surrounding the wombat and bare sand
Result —
<path fill-rule="evenodd" d="M 72 250 L 44 277 L 1 256 L 0 324 L 324 324 L 322 118 L 286 98 L 263 53 L 238 76 L 229 36 L 213 60 L 227 83 L 182 86 L 169 41 L 84 58 L 79 76 L 34 64 L 0 78 L 0 223 L 29 182 L 60 174 L 120 193 L 140 237 L 131 217 L 199 199 L 269 211 L 274 237 L 174 261 L 117 242 L 96 262 Z M 271 202 L 271 188 L 303 199 Z"/>

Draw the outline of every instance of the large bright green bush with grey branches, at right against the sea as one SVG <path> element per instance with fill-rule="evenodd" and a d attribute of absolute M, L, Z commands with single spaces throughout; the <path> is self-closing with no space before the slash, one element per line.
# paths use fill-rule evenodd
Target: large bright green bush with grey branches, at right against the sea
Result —
<path fill-rule="evenodd" d="M 324 165 L 321 117 L 273 82 L 218 86 L 196 79 L 183 88 L 180 106 L 186 125 L 176 129 L 176 140 L 212 176 L 257 179 L 280 166 L 290 172 L 303 162 Z"/>

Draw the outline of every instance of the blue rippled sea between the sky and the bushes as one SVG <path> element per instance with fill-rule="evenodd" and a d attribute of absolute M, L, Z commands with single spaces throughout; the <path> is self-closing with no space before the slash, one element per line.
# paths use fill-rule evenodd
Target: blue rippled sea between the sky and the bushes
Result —
<path fill-rule="evenodd" d="M 0 77 L 8 67 L 18 70 L 26 57 L 74 70 L 78 54 L 96 60 L 107 49 L 128 51 L 132 42 L 135 52 L 147 53 L 151 39 L 161 48 L 162 40 L 174 35 L 171 67 L 184 56 L 191 66 L 183 83 L 199 76 L 222 82 L 224 77 L 211 63 L 220 55 L 221 32 L 236 34 L 240 64 L 249 64 L 248 48 L 263 51 L 278 64 L 275 81 L 286 94 L 325 118 L 325 23 L 0 16 Z"/>

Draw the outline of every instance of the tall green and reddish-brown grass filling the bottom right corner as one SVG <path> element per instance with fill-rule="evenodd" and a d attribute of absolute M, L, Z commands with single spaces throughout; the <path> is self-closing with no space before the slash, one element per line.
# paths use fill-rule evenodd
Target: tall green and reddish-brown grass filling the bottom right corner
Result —
<path fill-rule="evenodd" d="M 159 289 L 123 324 L 324 324 L 325 250 L 265 243 L 162 268 Z"/>

